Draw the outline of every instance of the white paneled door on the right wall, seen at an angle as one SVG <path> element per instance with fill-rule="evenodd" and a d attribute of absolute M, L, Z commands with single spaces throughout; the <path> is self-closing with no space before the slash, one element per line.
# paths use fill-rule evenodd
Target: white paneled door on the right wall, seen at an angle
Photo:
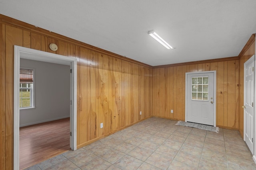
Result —
<path fill-rule="evenodd" d="M 254 153 L 254 56 L 244 63 L 244 141 Z"/>

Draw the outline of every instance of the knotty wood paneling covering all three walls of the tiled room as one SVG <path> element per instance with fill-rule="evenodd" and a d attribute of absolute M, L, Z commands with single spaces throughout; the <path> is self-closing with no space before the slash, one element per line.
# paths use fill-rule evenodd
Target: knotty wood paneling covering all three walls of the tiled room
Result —
<path fill-rule="evenodd" d="M 77 145 L 82 147 L 150 116 L 184 120 L 185 73 L 208 70 L 217 73 L 216 124 L 242 134 L 243 63 L 255 54 L 255 34 L 251 38 L 240 58 L 153 68 L 0 15 L 0 169 L 13 169 L 14 45 L 76 57 Z M 51 51 L 50 43 L 58 51 Z"/>

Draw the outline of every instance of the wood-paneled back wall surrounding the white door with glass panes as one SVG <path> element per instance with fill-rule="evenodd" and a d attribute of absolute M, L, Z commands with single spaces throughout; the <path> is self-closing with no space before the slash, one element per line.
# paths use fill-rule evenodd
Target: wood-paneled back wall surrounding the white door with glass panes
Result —
<path fill-rule="evenodd" d="M 216 70 L 216 125 L 239 128 L 239 59 L 173 64 L 153 69 L 153 115 L 185 120 L 186 72 Z M 170 110 L 173 113 L 170 113 Z"/>

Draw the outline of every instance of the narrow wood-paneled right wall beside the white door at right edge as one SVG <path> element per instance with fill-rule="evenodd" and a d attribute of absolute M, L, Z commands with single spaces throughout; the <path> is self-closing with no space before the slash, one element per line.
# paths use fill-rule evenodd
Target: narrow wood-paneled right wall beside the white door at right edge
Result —
<path fill-rule="evenodd" d="M 253 34 L 244 49 L 239 54 L 240 57 L 240 70 L 239 70 L 239 132 L 242 137 L 244 137 L 244 109 L 242 106 L 244 105 L 244 63 L 255 54 L 255 34 Z"/>

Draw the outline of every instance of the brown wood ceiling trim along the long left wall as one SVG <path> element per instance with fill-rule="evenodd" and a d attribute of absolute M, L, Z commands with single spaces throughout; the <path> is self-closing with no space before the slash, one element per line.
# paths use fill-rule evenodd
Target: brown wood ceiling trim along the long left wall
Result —
<path fill-rule="evenodd" d="M 105 54 L 105 55 L 109 55 L 109 56 L 112 56 L 112 57 L 117 58 L 117 59 L 122 59 L 124 61 L 128 61 L 128 62 L 131 62 L 131 63 L 135 63 L 135 64 L 139 64 L 139 65 L 142 65 L 142 66 L 152 68 L 152 66 L 150 66 L 148 64 L 145 64 L 145 63 L 142 63 L 142 62 L 139 62 L 139 61 L 136 61 L 136 60 L 118 55 L 116 53 L 112 53 L 110 51 L 106 51 L 106 50 L 98 48 L 98 47 L 94 47 L 92 45 L 83 43 L 81 41 L 66 37 L 64 35 L 60 35 L 58 33 L 48 31 L 48 30 L 40 28 L 40 27 L 36 27 L 35 25 L 31 25 L 29 23 L 19 21 L 19 20 L 16 20 L 14 18 L 10 18 L 10 17 L 4 16 L 2 14 L 0 14 L 0 23 L 10 25 L 10 26 L 14 26 L 14 27 L 20 27 L 23 30 L 27 30 L 27 31 L 30 31 L 30 32 L 33 32 L 33 33 L 44 35 L 46 37 L 54 38 L 56 40 L 65 41 L 65 42 L 71 43 L 72 45 L 78 45 L 80 47 L 84 47 L 84 48 L 92 50 L 92 51 L 96 51 L 96 52 L 99 52 L 99 53 L 102 53 L 102 54 Z"/>

